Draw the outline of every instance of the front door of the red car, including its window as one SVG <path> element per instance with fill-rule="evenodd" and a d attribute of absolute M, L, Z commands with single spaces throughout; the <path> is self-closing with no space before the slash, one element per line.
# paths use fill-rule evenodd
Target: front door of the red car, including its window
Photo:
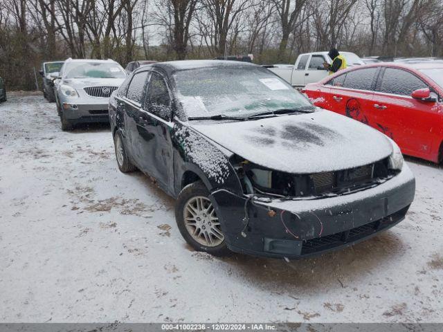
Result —
<path fill-rule="evenodd" d="M 428 117 L 431 104 L 415 100 L 413 91 L 428 84 L 410 71 L 383 68 L 372 109 L 377 112 L 375 128 L 390 136 L 404 154 L 426 157 L 431 153 L 435 124 Z"/>

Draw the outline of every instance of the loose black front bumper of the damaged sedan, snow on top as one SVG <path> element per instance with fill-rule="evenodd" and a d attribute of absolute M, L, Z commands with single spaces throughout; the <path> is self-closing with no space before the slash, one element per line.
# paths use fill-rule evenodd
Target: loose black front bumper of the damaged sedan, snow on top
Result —
<path fill-rule="evenodd" d="M 248 199 L 215 190 L 221 228 L 230 250 L 300 258 L 351 246 L 404 219 L 415 194 L 408 165 L 397 176 L 361 192 L 323 199 Z"/>

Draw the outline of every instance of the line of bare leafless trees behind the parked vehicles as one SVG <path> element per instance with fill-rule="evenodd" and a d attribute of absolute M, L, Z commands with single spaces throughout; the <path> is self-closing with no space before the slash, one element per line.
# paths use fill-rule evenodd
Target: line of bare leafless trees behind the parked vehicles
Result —
<path fill-rule="evenodd" d="M 32 89 L 52 59 L 202 59 L 299 53 L 443 56 L 441 0 L 2 0 L 0 76 Z M 29 88 L 27 86 L 30 86 Z"/>

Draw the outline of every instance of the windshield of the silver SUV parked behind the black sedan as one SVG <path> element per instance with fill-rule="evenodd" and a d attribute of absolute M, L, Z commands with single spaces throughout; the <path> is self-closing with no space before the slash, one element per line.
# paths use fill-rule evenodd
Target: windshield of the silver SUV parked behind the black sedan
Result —
<path fill-rule="evenodd" d="M 125 70 L 113 62 L 72 62 L 66 66 L 65 78 L 125 78 Z"/>

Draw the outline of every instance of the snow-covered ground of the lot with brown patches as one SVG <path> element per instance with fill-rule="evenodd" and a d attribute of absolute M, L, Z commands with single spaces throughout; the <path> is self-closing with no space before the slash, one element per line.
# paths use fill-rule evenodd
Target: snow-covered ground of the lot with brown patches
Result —
<path fill-rule="evenodd" d="M 443 322 L 443 168 L 405 221 L 289 263 L 192 251 L 174 201 L 118 172 L 109 127 L 60 130 L 41 95 L 0 104 L 0 322 Z"/>

